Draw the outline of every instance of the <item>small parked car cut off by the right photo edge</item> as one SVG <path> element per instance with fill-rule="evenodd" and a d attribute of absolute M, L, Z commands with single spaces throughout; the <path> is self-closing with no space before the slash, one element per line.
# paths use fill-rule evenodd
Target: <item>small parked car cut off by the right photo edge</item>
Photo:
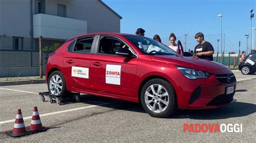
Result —
<path fill-rule="evenodd" d="M 246 58 L 239 64 L 238 68 L 244 75 L 252 74 L 256 72 L 256 53 L 250 53 Z"/>

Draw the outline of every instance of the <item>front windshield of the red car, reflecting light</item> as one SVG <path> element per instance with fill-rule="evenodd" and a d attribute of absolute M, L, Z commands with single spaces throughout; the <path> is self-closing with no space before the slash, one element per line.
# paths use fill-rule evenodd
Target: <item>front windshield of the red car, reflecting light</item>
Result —
<path fill-rule="evenodd" d="M 151 38 L 137 36 L 137 35 L 125 35 L 125 38 L 130 40 L 140 51 L 149 55 L 176 55 L 177 53 L 172 51 L 171 48 L 161 44 L 160 42 Z"/>

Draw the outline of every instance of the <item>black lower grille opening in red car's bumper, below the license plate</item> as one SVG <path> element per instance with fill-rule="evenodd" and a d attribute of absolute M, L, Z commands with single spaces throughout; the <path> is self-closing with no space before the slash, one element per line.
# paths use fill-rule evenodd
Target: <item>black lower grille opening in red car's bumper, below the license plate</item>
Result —
<path fill-rule="evenodd" d="M 225 105 L 230 103 L 233 100 L 233 94 L 229 94 L 229 95 L 219 95 L 215 98 L 212 99 L 211 102 L 209 102 L 208 104 L 206 104 L 207 106 L 218 106 L 218 105 Z"/>

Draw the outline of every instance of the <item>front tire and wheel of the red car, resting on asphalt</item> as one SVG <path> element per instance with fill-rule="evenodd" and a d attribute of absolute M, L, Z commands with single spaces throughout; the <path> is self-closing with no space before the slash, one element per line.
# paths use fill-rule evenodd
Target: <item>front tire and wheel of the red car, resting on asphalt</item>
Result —
<path fill-rule="evenodd" d="M 177 110 L 177 100 L 172 85 L 160 78 L 154 78 L 144 84 L 140 101 L 144 110 L 152 117 L 169 117 Z"/>

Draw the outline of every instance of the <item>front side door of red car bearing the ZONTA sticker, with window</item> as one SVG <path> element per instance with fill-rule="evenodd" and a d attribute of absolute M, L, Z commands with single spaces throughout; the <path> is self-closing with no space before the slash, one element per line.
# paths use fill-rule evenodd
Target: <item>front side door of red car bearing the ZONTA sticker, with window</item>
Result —
<path fill-rule="evenodd" d="M 134 81 L 138 58 L 126 58 L 114 53 L 118 48 L 128 48 L 117 37 L 102 35 L 97 43 L 97 54 L 92 55 L 91 62 L 91 88 L 107 94 L 136 97 Z"/>

